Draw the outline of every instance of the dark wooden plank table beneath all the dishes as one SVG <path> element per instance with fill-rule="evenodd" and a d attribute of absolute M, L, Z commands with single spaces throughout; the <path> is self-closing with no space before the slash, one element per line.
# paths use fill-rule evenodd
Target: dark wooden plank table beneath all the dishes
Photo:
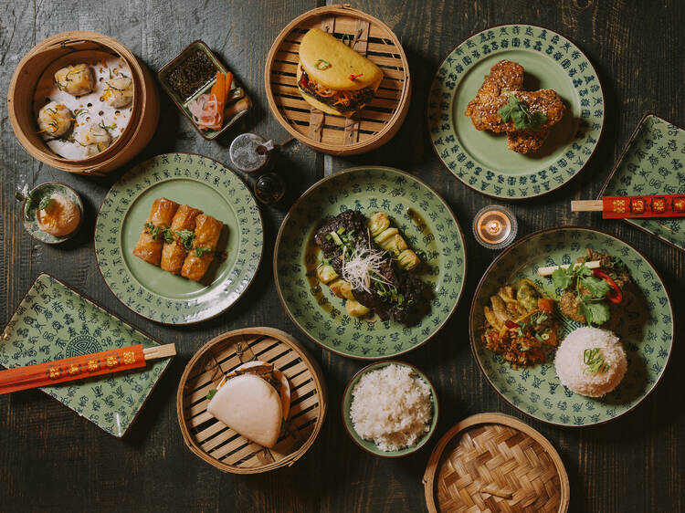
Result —
<path fill-rule="evenodd" d="M 423 511 L 421 477 L 430 447 L 458 420 L 479 412 L 522 418 L 558 449 L 571 480 L 573 511 L 682 511 L 685 509 L 685 351 L 675 340 L 658 389 L 638 409 L 615 422 L 585 429 L 533 421 L 504 403 L 481 376 L 469 349 L 469 299 L 497 255 L 478 246 L 470 223 L 488 198 L 453 179 L 430 147 L 427 90 L 437 65 L 465 37 L 487 26 L 521 22 L 547 26 L 569 37 L 592 60 L 606 91 L 606 128 L 595 156 L 561 190 L 511 204 L 520 233 L 555 225 L 591 225 L 638 246 L 669 285 L 676 330 L 685 332 L 685 253 L 626 224 L 596 215 L 571 215 L 572 199 L 594 198 L 613 162 L 648 111 L 685 124 L 683 51 L 685 4 L 677 0 L 566 0 L 564 2 L 358 1 L 353 6 L 384 20 L 409 58 L 413 95 L 393 141 L 350 159 L 332 158 L 299 143 L 283 152 L 278 171 L 289 197 L 263 208 L 266 250 L 256 283 L 237 305 L 195 327 L 166 328 L 126 309 L 105 286 L 93 254 L 96 212 L 111 183 L 131 165 L 162 152 L 197 152 L 228 162 L 227 147 L 241 131 L 285 138 L 269 114 L 263 87 L 264 58 L 290 19 L 323 5 L 313 0 L 203 3 L 172 0 L 83 0 L 32 3 L 0 0 L 0 89 L 7 90 L 20 58 L 58 32 L 96 30 L 121 40 L 153 71 L 182 47 L 202 38 L 233 69 L 255 108 L 237 130 L 219 141 L 202 140 L 162 93 L 162 116 L 150 145 L 134 162 L 105 180 L 61 173 L 32 159 L 16 141 L 0 103 L 0 322 L 9 319 L 26 288 L 47 271 L 79 289 L 158 340 L 175 342 L 179 356 L 123 440 L 111 437 L 39 391 L 0 396 L 0 509 Z M 452 206 L 467 239 L 469 275 L 461 305 L 426 346 L 406 355 L 436 384 L 440 422 L 431 444 L 416 455 L 384 460 L 367 455 L 344 433 L 342 389 L 362 362 L 321 350 L 286 316 L 274 288 L 271 257 L 283 216 L 294 197 L 324 174 L 358 164 L 384 164 L 432 184 Z M 58 180 L 86 202 L 78 238 L 51 247 L 31 239 L 14 201 L 23 183 Z M 248 326 L 288 330 L 321 363 L 330 410 L 316 444 L 295 466 L 259 476 L 222 474 L 184 446 L 176 422 L 176 385 L 185 362 L 217 334 Z"/>

